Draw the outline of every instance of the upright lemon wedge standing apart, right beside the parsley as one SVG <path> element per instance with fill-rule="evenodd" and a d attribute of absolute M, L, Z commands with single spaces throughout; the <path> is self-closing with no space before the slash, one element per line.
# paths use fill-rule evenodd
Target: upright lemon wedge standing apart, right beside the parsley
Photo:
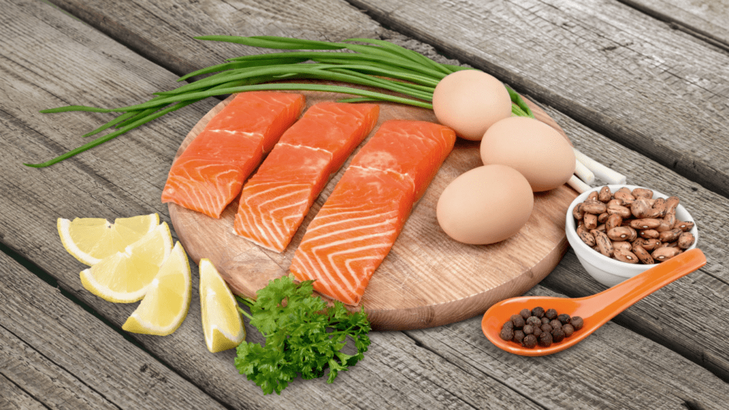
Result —
<path fill-rule="evenodd" d="M 246 339 L 238 303 L 209 259 L 200 259 L 200 313 L 210 352 L 233 349 Z"/>

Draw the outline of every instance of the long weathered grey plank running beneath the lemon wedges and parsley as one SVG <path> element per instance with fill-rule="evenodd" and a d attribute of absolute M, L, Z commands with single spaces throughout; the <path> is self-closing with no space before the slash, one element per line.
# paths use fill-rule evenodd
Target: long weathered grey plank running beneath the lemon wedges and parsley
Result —
<path fill-rule="evenodd" d="M 79 271 L 84 268 L 68 255 L 58 234 L 58 217 L 129 216 L 160 211 L 168 220 L 166 206 L 160 204 L 161 189 L 174 157 L 179 136 L 212 107 L 192 107 L 181 113 L 104 144 L 49 169 L 27 169 L 20 158 L 58 153 L 77 143 L 77 135 L 93 128 L 99 119 L 94 115 L 61 115 L 50 118 L 37 110 L 52 104 L 54 90 L 69 101 L 112 104 L 115 98 L 140 95 L 148 85 L 171 83 L 174 75 L 134 55 L 89 26 L 42 3 L 16 1 L 4 12 L 15 22 L 0 28 L 0 38 L 15 42 L 1 43 L 0 61 L 0 171 L 12 178 L 0 182 L 0 190 L 8 193 L 0 198 L 2 241 L 21 255 L 34 260 L 63 289 L 92 306 L 112 325 L 120 328 L 135 304 L 114 304 L 102 301 L 84 290 Z M 23 27 L 33 26 L 32 33 Z M 42 40 L 42 41 L 39 41 Z M 86 47 L 87 46 L 87 47 Z M 35 53 L 26 53 L 34 48 Z M 93 64 L 78 63 L 93 61 Z M 23 65 L 14 63 L 22 61 Z M 119 69 L 120 63 L 123 69 Z M 54 75 L 39 75 L 45 66 L 52 66 Z M 93 67 L 90 67 L 93 66 Z M 134 77 L 140 77 L 135 80 Z M 144 77 L 144 80 L 141 80 Z M 71 81 L 73 84 L 67 84 Z M 88 89 L 101 89 L 85 96 Z M 186 129 L 185 129 L 186 128 Z M 22 232 L 22 235 L 17 233 Z M 472 395 L 443 395 L 439 387 L 443 371 L 458 373 L 458 368 L 445 363 L 445 368 L 420 368 L 407 360 L 412 355 L 391 347 L 393 339 L 408 340 L 402 333 L 375 333 L 367 359 L 351 371 L 338 376 L 335 384 L 324 379 L 308 382 L 297 379 L 280 397 L 263 396 L 260 388 L 238 374 L 233 366 L 235 352 L 219 354 L 207 351 L 200 325 L 198 272 L 193 268 L 191 309 L 182 326 L 171 336 L 130 335 L 144 349 L 158 357 L 207 394 L 233 408 L 257 409 L 322 409 L 330 406 L 351 409 L 383 408 L 463 408 Z M 69 314 L 72 320 L 73 314 Z M 260 341 L 252 335 L 251 340 Z M 391 355 L 405 357 L 393 368 L 391 360 L 382 357 L 383 349 Z M 104 366 L 101 366 L 104 369 Z M 147 368 L 139 367 L 135 377 L 143 377 Z M 104 369 L 106 370 L 106 369 Z M 366 380 L 363 383 L 362 380 Z M 479 394 L 494 397 L 496 406 L 518 408 L 521 395 L 505 388 L 494 379 L 463 375 L 464 384 L 479 386 Z M 113 388 L 113 387 L 110 387 Z M 408 398 L 412 392 L 414 398 Z M 302 398 L 305 398 L 303 400 Z M 528 406 L 526 408 L 534 408 Z"/>

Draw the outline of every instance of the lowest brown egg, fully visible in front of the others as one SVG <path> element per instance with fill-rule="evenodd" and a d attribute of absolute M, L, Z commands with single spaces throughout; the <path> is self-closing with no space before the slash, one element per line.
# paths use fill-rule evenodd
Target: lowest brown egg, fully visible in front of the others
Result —
<path fill-rule="evenodd" d="M 438 199 L 443 231 L 464 244 L 493 244 L 517 233 L 534 208 L 529 182 L 504 165 L 479 166 L 453 179 Z"/>

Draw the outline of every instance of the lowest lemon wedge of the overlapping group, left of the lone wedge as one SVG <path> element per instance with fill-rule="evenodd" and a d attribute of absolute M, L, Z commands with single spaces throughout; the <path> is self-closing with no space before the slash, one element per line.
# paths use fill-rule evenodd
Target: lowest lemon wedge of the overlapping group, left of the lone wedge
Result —
<path fill-rule="evenodd" d="M 122 329 L 157 336 L 173 333 L 187 316 L 191 293 L 190 263 L 177 242 Z"/>

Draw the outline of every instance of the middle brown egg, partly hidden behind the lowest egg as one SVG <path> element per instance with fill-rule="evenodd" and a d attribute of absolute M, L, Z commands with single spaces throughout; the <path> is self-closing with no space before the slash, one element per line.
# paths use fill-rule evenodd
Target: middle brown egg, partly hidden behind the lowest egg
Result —
<path fill-rule="evenodd" d="M 509 117 L 481 139 L 484 165 L 499 163 L 521 172 L 534 192 L 558 187 L 574 174 L 572 145 L 554 128 L 528 117 Z"/>

